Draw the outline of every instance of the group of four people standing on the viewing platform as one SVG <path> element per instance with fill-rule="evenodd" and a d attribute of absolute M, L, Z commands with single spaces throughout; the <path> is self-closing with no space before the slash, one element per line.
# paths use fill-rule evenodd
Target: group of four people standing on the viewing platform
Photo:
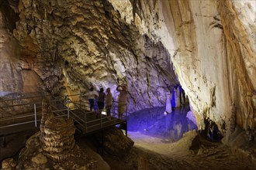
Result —
<path fill-rule="evenodd" d="M 119 91 L 118 96 L 118 117 L 123 117 L 123 113 L 126 110 L 126 100 L 127 100 L 127 89 L 125 86 L 118 86 L 116 90 Z M 106 114 L 110 118 L 110 111 L 112 108 L 112 102 L 114 101 L 112 97 L 112 93 L 110 88 L 107 88 L 106 93 L 104 92 L 103 88 L 100 88 L 99 93 L 94 90 L 93 87 L 87 93 L 88 101 L 90 103 L 90 110 L 94 109 L 96 111 L 96 116 L 99 117 L 102 114 L 102 110 L 106 104 Z M 98 104 L 97 109 L 95 105 Z"/>

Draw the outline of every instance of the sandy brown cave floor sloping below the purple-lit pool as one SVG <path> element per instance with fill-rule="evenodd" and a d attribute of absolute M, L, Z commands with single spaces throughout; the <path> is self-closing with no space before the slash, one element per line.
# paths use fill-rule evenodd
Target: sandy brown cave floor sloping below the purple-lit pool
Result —
<path fill-rule="evenodd" d="M 174 143 L 164 138 L 154 138 L 143 132 L 130 132 L 135 141 L 133 149 L 125 157 L 107 153 L 102 158 L 112 169 L 254 169 L 252 162 L 244 162 L 232 155 L 230 148 L 210 142 L 196 131 L 189 131 Z"/>

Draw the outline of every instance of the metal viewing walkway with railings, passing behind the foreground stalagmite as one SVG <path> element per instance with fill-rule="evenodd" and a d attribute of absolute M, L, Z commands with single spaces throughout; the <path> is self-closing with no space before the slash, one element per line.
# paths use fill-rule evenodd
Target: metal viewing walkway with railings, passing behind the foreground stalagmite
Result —
<path fill-rule="evenodd" d="M 71 118 L 75 127 L 82 134 L 89 134 L 104 128 L 120 124 L 127 129 L 127 111 L 122 118 L 118 118 L 117 103 L 113 102 L 111 116 L 106 110 L 96 116 L 95 111 L 89 110 L 89 103 L 82 95 L 72 95 L 50 100 L 50 106 L 55 116 Z M 29 100 L 35 102 L 31 103 Z M 0 100 L 0 137 L 40 127 L 43 97 L 22 98 L 16 100 Z M 7 114 L 7 117 L 3 115 Z M 127 135 L 127 131 L 126 131 Z"/>

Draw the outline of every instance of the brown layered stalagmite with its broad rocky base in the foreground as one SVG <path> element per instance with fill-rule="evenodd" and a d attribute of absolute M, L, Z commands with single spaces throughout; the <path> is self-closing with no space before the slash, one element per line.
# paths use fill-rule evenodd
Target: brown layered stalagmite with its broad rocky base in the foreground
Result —
<path fill-rule="evenodd" d="M 16 169 L 97 169 L 95 160 L 75 145 L 73 121 L 54 117 L 48 102 L 43 100 L 40 131 L 26 141 Z M 15 165 L 12 160 L 3 163 L 3 169 Z"/>

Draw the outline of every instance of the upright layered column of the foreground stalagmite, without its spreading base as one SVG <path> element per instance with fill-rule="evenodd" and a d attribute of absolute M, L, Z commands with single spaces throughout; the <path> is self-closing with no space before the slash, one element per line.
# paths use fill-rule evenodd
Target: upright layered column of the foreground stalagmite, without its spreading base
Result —
<path fill-rule="evenodd" d="M 75 147 L 73 120 L 65 121 L 63 117 L 54 117 L 47 100 L 43 101 L 40 131 L 41 147 L 47 158 L 63 162 L 72 155 L 71 151 Z"/>

